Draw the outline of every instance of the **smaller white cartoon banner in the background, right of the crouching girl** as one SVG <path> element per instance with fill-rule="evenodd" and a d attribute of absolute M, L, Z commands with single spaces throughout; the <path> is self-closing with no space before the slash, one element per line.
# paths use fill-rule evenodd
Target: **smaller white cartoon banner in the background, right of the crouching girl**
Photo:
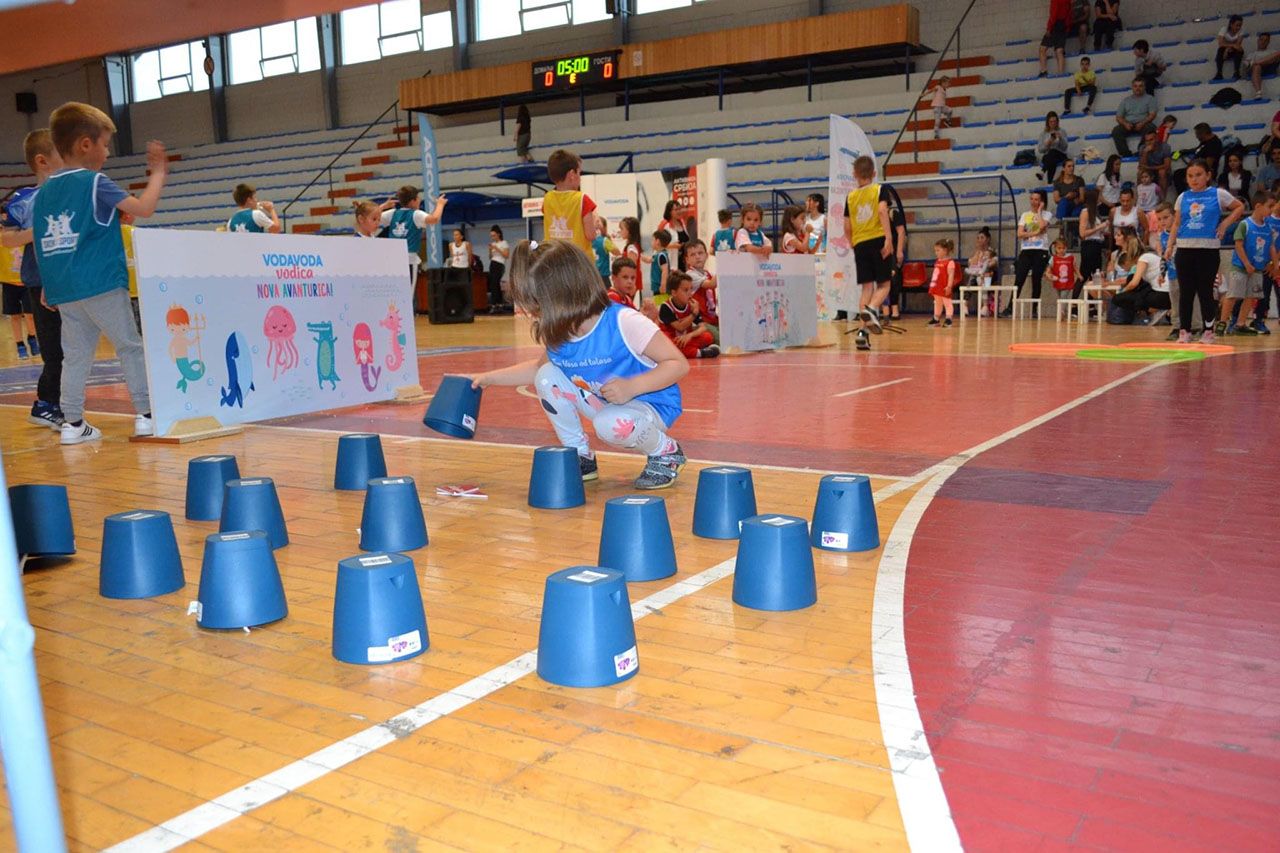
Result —
<path fill-rule="evenodd" d="M 813 255 L 717 256 L 721 347 L 781 350 L 817 342 L 818 305 Z"/>

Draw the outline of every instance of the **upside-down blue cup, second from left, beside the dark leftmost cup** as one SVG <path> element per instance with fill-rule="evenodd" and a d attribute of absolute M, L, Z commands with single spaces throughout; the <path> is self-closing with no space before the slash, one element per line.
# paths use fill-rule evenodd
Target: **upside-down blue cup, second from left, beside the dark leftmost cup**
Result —
<path fill-rule="evenodd" d="M 104 598 L 151 598 L 184 585 L 182 555 L 168 512 L 133 510 L 104 519 L 99 594 Z"/>

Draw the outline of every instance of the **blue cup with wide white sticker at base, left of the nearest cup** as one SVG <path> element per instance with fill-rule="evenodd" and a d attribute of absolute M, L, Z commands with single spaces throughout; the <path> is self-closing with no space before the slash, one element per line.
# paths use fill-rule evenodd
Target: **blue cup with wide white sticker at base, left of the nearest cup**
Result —
<path fill-rule="evenodd" d="M 430 646 L 413 561 L 366 553 L 338 564 L 333 656 L 346 663 L 390 663 Z"/>

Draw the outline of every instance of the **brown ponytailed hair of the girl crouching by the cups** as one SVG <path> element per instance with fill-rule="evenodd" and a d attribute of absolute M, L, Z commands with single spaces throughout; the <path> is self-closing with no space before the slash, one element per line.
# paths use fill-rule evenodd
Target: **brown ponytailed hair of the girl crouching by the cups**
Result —
<path fill-rule="evenodd" d="M 518 309 L 534 318 L 534 339 L 563 346 L 579 327 L 609 307 L 595 263 L 573 243 L 521 241 L 511 252 L 511 284 Z"/>

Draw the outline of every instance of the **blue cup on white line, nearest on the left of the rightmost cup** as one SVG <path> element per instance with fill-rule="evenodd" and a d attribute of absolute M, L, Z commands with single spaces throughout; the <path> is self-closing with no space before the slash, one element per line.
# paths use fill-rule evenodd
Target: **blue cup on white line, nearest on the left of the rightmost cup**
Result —
<path fill-rule="evenodd" d="M 742 521 L 733 603 L 751 610 L 800 610 L 817 601 L 809 523 L 791 515 L 756 515 Z"/>

